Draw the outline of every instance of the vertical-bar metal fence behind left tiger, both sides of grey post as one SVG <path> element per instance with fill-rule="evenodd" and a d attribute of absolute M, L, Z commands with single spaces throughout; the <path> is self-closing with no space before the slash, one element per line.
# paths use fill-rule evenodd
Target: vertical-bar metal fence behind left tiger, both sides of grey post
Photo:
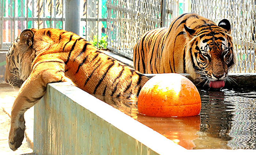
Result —
<path fill-rule="evenodd" d="M 106 0 L 80 4 L 80 35 L 99 47 L 106 36 Z M 65 29 L 65 0 L 0 0 L 0 50 L 8 50 L 24 29 L 47 27 Z"/>

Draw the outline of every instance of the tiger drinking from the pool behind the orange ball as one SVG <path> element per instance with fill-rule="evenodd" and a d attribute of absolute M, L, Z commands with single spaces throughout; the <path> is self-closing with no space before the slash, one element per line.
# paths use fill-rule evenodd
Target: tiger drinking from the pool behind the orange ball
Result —
<path fill-rule="evenodd" d="M 133 48 L 133 66 L 141 73 L 188 73 L 204 86 L 222 88 L 237 64 L 229 20 L 218 26 L 195 13 L 178 16 L 169 28 L 147 31 Z"/>

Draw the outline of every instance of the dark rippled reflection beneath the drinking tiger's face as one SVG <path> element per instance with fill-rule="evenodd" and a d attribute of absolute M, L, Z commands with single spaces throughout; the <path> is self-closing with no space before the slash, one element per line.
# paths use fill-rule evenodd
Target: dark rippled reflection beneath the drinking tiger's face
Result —
<path fill-rule="evenodd" d="M 194 140 L 195 149 L 198 148 L 223 148 L 230 149 L 227 141 L 231 129 L 231 113 L 234 109 L 230 104 L 224 102 L 223 91 L 203 91 L 199 90 L 202 108 L 201 125 L 198 139 Z"/>

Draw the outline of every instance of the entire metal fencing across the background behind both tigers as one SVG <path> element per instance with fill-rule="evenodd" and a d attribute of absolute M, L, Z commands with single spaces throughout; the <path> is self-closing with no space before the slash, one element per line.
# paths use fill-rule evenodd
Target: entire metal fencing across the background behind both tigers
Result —
<path fill-rule="evenodd" d="M 65 29 L 65 0 L 0 0 L 0 50 L 29 28 Z M 80 35 L 132 60 L 133 46 L 148 30 L 169 27 L 195 12 L 218 23 L 230 20 L 238 64 L 233 72 L 256 72 L 256 0 L 81 0 Z M 106 40 L 107 39 L 107 40 Z"/>

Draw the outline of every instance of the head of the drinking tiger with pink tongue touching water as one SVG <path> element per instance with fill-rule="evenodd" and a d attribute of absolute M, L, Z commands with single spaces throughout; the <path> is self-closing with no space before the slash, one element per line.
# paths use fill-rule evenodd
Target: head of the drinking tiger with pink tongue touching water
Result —
<path fill-rule="evenodd" d="M 198 80 L 206 80 L 212 88 L 225 85 L 229 70 L 236 64 L 230 22 L 221 20 L 218 26 L 205 24 L 187 33 L 186 71 Z"/>

